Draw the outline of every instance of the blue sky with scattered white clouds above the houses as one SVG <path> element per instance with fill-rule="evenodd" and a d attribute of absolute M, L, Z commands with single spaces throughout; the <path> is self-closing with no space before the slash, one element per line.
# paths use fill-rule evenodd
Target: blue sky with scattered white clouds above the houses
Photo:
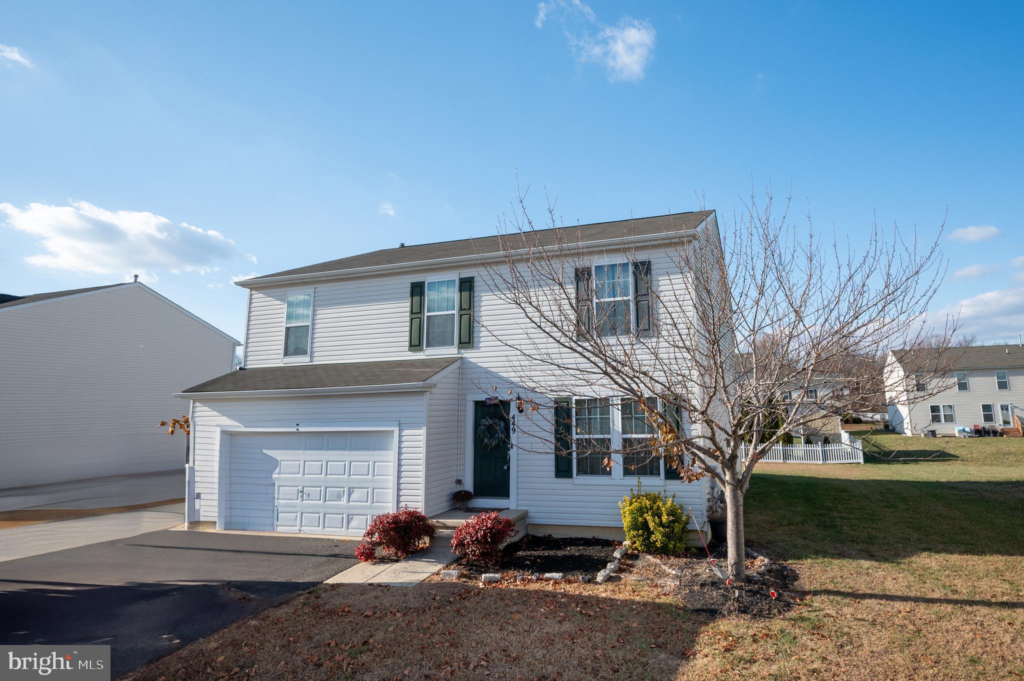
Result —
<path fill-rule="evenodd" d="M 238 338 L 267 273 L 792 186 L 818 228 L 934 238 L 984 340 L 1024 332 L 1024 4 L 0 7 L 0 292 L 124 281 Z M 963 230 L 963 231 L 956 231 Z M 958 273 L 954 273 L 958 272 Z"/>

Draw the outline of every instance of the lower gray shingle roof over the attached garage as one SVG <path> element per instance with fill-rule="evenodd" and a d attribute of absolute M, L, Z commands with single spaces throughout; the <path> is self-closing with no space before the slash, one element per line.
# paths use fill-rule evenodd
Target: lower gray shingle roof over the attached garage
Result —
<path fill-rule="evenodd" d="M 423 383 L 459 357 L 424 357 L 391 361 L 349 361 L 331 365 L 286 365 L 242 369 L 194 385 L 183 393 L 242 392 L 354 388 L 370 385 Z"/>

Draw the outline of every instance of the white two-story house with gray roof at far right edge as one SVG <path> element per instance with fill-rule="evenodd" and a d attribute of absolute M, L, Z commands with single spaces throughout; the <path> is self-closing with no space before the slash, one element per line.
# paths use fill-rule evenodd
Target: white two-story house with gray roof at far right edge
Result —
<path fill-rule="evenodd" d="M 889 423 L 896 432 L 954 435 L 957 426 L 1020 435 L 1024 347 L 894 350 L 886 358 Z"/>

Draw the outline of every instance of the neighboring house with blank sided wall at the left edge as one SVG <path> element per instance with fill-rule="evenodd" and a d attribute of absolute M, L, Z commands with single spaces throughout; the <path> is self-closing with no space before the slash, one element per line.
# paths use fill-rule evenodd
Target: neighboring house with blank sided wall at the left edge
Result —
<path fill-rule="evenodd" d="M 0 498 L 66 503 L 70 481 L 162 471 L 178 471 L 181 497 L 184 441 L 157 424 L 182 415 L 183 382 L 228 371 L 238 345 L 139 283 L 0 296 Z"/>

